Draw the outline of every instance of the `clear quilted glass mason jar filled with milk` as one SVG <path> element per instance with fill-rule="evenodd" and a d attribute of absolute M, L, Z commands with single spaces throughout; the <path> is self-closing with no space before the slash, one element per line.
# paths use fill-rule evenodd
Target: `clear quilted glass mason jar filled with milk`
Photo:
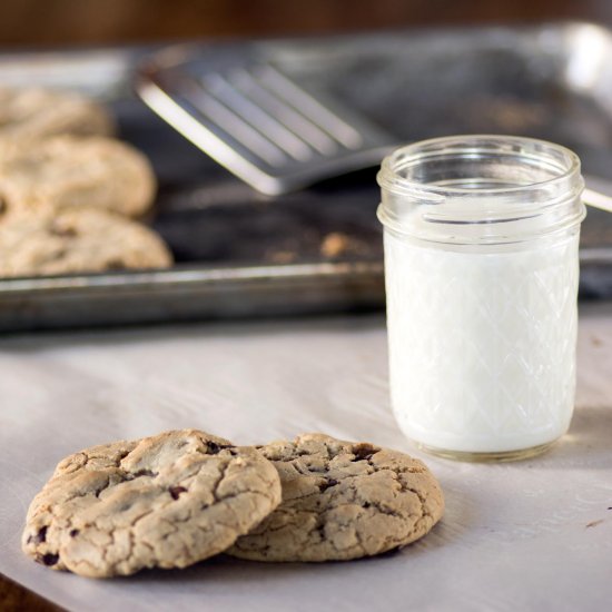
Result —
<path fill-rule="evenodd" d="M 399 427 L 453 458 L 545 450 L 574 406 L 579 158 L 527 138 L 436 138 L 385 158 L 378 184 Z"/>

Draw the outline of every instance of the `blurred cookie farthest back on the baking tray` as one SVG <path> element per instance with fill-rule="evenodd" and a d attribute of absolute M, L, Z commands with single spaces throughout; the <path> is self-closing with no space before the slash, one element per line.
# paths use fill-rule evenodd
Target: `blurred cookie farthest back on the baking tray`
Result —
<path fill-rule="evenodd" d="M 99 103 L 73 92 L 0 88 L 0 159 L 59 134 L 110 136 L 115 120 Z"/>

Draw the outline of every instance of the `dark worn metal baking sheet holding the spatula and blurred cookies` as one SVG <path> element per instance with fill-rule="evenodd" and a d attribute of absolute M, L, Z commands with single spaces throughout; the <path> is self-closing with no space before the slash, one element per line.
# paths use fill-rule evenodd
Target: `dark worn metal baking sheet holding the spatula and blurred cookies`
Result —
<path fill-rule="evenodd" d="M 466 132 L 574 149 L 612 193 L 612 34 L 583 23 L 411 30 L 190 43 L 198 61 L 269 61 L 314 95 L 354 107 L 398 141 Z M 374 170 L 276 198 L 217 166 L 132 92 L 156 49 L 0 56 L 0 82 L 81 89 L 108 101 L 159 178 L 155 228 L 176 266 L 0 280 L 0 330 L 379 308 L 382 234 Z M 339 234 L 339 249 L 326 249 Z M 612 215 L 590 210 L 581 296 L 612 296 Z"/>

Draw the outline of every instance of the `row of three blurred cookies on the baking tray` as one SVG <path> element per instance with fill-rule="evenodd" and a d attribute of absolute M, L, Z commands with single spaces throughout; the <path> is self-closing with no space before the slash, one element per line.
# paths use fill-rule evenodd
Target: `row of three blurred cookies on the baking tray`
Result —
<path fill-rule="evenodd" d="M 137 220 L 156 194 L 150 164 L 113 134 L 80 96 L 0 89 L 0 276 L 171 265 Z"/>

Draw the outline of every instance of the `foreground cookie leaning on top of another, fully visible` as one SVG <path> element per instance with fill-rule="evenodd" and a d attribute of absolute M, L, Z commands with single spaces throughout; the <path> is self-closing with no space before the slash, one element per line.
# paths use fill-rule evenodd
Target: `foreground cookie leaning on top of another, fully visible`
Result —
<path fill-rule="evenodd" d="M 186 567 L 229 546 L 280 502 L 253 447 L 195 430 L 87 448 L 32 501 L 22 547 L 53 570 L 103 578 Z"/>

